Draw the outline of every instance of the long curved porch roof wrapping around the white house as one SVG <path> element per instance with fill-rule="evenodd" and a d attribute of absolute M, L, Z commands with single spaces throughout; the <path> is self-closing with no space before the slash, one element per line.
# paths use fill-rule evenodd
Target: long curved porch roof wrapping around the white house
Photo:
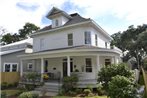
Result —
<path fill-rule="evenodd" d="M 52 54 L 65 54 L 65 53 L 79 53 L 79 52 L 102 52 L 102 53 L 113 53 L 121 55 L 121 51 L 117 49 L 106 49 L 100 48 L 90 45 L 81 45 L 81 46 L 72 46 L 66 48 L 59 48 L 59 49 L 50 49 L 50 50 L 43 50 L 39 52 L 34 52 L 30 54 L 19 55 L 18 57 L 30 57 L 30 56 L 41 56 L 41 55 L 52 55 Z"/>

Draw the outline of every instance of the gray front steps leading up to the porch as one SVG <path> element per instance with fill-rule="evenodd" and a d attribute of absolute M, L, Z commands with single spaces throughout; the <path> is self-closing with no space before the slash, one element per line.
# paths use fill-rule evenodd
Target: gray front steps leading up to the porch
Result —
<path fill-rule="evenodd" d="M 48 93 L 55 93 L 58 94 L 59 89 L 61 88 L 62 84 L 60 83 L 45 83 L 43 86 L 36 88 L 36 91 L 45 91 Z"/>

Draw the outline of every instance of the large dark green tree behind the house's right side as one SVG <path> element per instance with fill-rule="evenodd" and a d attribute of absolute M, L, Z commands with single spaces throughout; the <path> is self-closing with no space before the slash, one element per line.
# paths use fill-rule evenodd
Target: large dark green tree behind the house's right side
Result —
<path fill-rule="evenodd" d="M 146 33 L 142 32 L 145 32 L 146 29 L 146 24 L 139 25 L 136 28 L 131 25 L 127 30 L 112 35 L 114 40 L 112 40 L 111 45 L 119 47 L 123 54 L 128 51 L 127 54 L 123 55 L 124 62 L 128 61 L 131 57 L 135 57 L 137 65 L 142 64 L 142 57 L 147 52 L 145 47 L 145 43 L 147 43 Z"/>

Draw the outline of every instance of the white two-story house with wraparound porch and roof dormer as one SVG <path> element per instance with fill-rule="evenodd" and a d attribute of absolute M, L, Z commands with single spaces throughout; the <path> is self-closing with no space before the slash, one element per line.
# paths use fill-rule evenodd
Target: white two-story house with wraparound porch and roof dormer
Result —
<path fill-rule="evenodd" d="M 121 61 L 121 51 L 110 47 L 110 35 L 92 19 L 55 7 L 47 18 L 51 25 L 31 35 L 33 53 L 19 56 L 21 75 L 35 71 L 62 79 L 76 73 L 80 81 L 96 83 L 101 67 Z"/>

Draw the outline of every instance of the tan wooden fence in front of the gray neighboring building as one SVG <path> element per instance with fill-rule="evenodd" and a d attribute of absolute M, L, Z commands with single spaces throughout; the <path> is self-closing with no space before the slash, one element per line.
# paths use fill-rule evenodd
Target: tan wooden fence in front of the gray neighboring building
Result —
<path fill-rule="evenodd" d="M 1 76 L 1 83 L 2 82 L 15 83 L 15 82 L 19 82 L 20 79 L 19 72 L 0 72 L 0 76 Z"/>

